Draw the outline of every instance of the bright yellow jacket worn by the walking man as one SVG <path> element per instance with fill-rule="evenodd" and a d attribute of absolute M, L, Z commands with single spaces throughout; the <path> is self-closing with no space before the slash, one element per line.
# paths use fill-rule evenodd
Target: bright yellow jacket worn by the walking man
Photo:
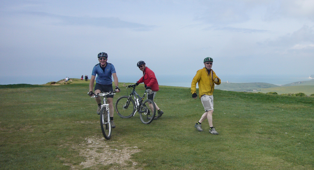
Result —
<path fill-rule="evenodd" d="M 215 82 L 214 79 L 218 78 L 218 82 Z M 221 80 L 217 77 L 216 73 L 210 69 L 208 74 L 207 69 L 204 67 L 196 72 L 195 77 L 192 80 L 191 84 L 191 93 L 196 93 L 196 83 L 198 83 L 198 97 L 201 98 L 203 94 L 205 95 L 213 95 L 214 92 L 214 83 L 219 85 Z"/>

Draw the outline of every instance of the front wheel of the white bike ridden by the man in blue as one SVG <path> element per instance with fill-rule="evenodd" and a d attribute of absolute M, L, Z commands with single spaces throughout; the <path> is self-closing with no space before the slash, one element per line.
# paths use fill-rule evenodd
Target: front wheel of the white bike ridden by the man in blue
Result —
<path fill-rule="evenodd" d="M 110 123 L 109 112 L 107 112 L 106 107 L 103 107 L 100 110 L 100 128 L 104 137 L 106 139 L 110 139 L 111 123 Z"/>

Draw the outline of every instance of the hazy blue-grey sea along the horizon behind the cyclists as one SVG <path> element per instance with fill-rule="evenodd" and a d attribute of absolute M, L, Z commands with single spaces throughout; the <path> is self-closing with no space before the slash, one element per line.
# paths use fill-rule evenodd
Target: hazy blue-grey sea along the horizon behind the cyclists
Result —
<path fill-rule="evenodd" d="M 156 75 L 159 85 L 191 87 L 195 75 Z M 46 84 L 70 78 L 81 78 L 80 75 L 53 75 L 53 76 L 0 76 L 0 84 Z M 91 76 L 89 76 L 90 78 Z M 140 75 L 119 75 L 119 82 L 135 83 Z M 309 75 L 219 75 L 222 82 L 249 83 L 264 82 L 275 85 L 284 85 L 292 82 L 312 80 Z"/>

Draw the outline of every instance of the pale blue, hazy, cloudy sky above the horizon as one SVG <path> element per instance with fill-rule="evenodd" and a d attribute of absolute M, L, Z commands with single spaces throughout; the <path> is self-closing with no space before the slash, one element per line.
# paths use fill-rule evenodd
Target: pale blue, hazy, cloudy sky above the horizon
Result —
<path fill-rule="evenodd" d="M 313 0 L 2 0 L 0 29 L 6 76 L 90 75 L 100 52 L 118 77 L 314 74 Z"/>

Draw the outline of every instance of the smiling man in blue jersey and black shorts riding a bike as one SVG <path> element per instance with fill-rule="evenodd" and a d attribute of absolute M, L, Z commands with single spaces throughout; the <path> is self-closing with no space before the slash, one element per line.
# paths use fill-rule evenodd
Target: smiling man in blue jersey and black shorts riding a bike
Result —
<path fill-rule="evenodd" d="M 112 78 L 115 82 L 115 91 L 120 92 L 120 89 L 118 87 L 118 77 L 116 76 L 116 69 L 113 66 L 113 64 L 107 62 L 108 54 L 105 52 L 101 52 L 98 54 L 98 61 L 99 63 L 96 64 L 93 68 L 92 77 L 90 78 L 89 82 L 89 96 L 94 96 L 95 93 L 108 93 L 113 92 L 112 88 Z M 93 87 L 94 87 L 94 81 L 96 78 L 96 85 L 95 85 L 95 93 L 93 93 Z M 108 104 L 109 104 L 109 112 L 110 112 L 110 122 L 111 127 L 115 128 L 116 125 L 113 123 L 113 95 L 107 95 L 106 96 Z M 101 98 L 95 98 L 98 108 L 97 108 L 97 114 L 100 114 L 101 109 Z"/>

